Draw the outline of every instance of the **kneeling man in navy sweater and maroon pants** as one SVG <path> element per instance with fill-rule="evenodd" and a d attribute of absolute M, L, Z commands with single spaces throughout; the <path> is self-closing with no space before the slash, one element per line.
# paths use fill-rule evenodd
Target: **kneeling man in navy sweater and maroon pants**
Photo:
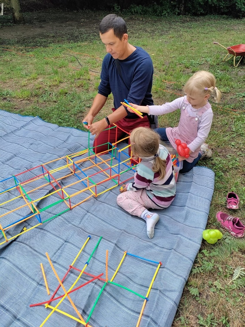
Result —
<path fill-rule="evenodd" d="M 142 106 L 153 105 L 151 88 L 153 64 L 149 54 L 141 47 L 128 43 L 127 26 L 125 21 L 110 14 L 100 23 L 100 39 L 107 51 L 102 62 L 100 85 L 93 104 L 84 117 L 84 127 L 95 135 L 94 145 L 97 153 L 108 149 L 108 125 L 116 123 L 121 129 L 130 132 L 136 127 L 150 127 L 147 114 L 142 118 L 129 112 L 120 102 L 128 102 Z M 108 95 L 114 97 L 112 113 L 98 122 L 93 123 L 94 117 L 104 106 Z M 124 137 L 124 132 L 110 129 L 110 142 L 114 143 Z"/>

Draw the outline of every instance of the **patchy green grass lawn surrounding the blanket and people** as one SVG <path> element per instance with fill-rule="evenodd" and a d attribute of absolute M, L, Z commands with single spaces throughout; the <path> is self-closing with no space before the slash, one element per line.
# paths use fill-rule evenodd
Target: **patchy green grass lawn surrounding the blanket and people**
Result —
<path fill-rule="evenodd" d="M 245 242 L 222 230 L 215 215 L 218 211 L 229 212 L 225 208 L 226 194 L 235 191 L 240 197 L 240 209 L 229 213 L 242 217 L 245 223 L 245 69 L 244 63 L 235 68 L 232 60 L 223 62 L 225 49 L 213 41 L 226 47 L 244 43 L 245 20 L 210 16 L 125 16 L 125 20 L 130 43 L 142 46 L 153 60 L 155 104 L 172 101 L 176 94 L 182 94 L 183 85 L 198 70 L 209 70 L 217 78 L 222 101 L 219 106 L 212 103 L 214 119 L 207 139 L 213 156 L 200 164 L 215 172 L 207 228 L 220 229 L 223 238 L 214 245 L 203 241 L 173 327 L 242 327 L 245 278 L 230 281 L 237 267 L 245 267 Z M 19 43 L 5 40 L 8 44 L 5 48 L 13 51 L 1 51 L 1 108 L 83 129 L 82 119 L 97 93 L 105 49 L 93 28 L 81 33 L 79 42 L 69 41 L 77 40 L 78 34 L 76 31 L 74 35 L 66 35 L 64 31 L 62 37 L 57 36 L 57 43 L 51 43 L 50 35 Z M 39 44 L 43 46 L 24 47 Z M 97 119 L 109 113 L 112 106 L 110 95 Z M 178 119 L 176 111 L 161 116 L 160 125 L 176 126 Z"/>

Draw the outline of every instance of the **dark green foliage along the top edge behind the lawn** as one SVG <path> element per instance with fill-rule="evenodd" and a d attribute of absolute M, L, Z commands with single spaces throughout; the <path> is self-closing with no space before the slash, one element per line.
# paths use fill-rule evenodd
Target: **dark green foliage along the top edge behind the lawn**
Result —
<path fill-rule="evenodd" d="M 123 15 L 228 15 L 245 17 L 245 0 L 6 0 L 20 2 L 23 11 L 59 8 L 105 10 Z"/>

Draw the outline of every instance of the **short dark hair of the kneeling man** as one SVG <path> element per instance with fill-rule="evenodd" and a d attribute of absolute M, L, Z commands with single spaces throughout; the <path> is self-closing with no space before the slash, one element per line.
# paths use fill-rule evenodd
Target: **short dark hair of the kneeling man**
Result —
<path fill-rule="evenodd" d="M 114 30 L 114 34 L 118 39 L 122 39 L 123 34 L 127 34 L 127 26 L 122 17 L 115 14 L 105 16 L 100 23 L 100 33 L 104 34 L 110 29 Z"/>

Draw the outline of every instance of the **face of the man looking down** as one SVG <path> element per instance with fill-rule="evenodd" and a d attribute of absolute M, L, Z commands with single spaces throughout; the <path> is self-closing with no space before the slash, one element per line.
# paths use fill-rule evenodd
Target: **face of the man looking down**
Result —
<path fill-rule="evenodd" d="M 106 52 L 110 53 L 114 59 L 125 59 L 124 53 L 127 48 L 128 34 L 124 34 L 122 39 L 118 39 L 114 30 L 110 29 L 108 32 L 101 34 L 100 39 L 104 43 Z"/>

